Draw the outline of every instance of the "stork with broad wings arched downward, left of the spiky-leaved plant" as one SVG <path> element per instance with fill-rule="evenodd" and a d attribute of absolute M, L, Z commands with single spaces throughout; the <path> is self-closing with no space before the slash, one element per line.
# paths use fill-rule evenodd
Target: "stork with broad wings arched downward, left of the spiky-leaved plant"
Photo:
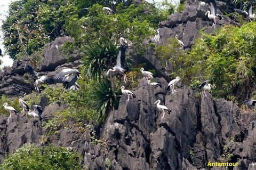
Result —
<path fill-rule="evenodd" d="M 76 83 L 76 80 L 80 78 L 81 72 L 77 69 L 63 69 L 57 75 L 53 76 L 53 79 L 57 79 L 58 83 L 63 83 L 63 87 L 69 89 Z"/>

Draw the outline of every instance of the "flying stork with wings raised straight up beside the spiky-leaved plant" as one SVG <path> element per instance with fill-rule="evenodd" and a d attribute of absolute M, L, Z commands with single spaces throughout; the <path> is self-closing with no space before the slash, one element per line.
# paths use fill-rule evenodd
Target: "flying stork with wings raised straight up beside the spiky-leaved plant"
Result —
<path fill-rule="evenodd" d="M 124 76 L 124 83 L 127 82 L 127 78 L 125 75 L 125 71 L 127 71 L 129 68 L 128 67 L 124 67 L 124 62 L 125 62 L 125 50 L 127 48 L 127 45 L 124 44 L 121 46 L 118 55 L 117 55 L 117 60 L 116 60 L 116 66 L 113 69 L 109 69 L 107 72 L 107 75 L 109 74 L 110 71 L 114 72 L 117 71 L 119 72 L 119 74 Z"/>

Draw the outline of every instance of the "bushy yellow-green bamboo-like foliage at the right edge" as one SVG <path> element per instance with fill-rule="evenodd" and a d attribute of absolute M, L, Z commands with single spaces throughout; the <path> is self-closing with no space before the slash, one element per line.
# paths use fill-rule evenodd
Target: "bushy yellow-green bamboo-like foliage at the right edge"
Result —
<path fill-rule="evenodd" d="M 214 82 L 217 98 L 232 101 L 245 98 L 253 92 L 255 84 L 256 34 L 255 23 L 237 28 L 226 26 L 217 35 L 204 35 L 207 68 L 205 74 Z"/>

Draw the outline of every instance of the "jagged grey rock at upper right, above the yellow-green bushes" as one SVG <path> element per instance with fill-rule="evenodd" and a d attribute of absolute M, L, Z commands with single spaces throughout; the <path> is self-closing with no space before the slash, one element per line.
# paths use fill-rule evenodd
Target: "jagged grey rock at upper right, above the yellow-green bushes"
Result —
<path fill-rule="evenodd" d="M 223 17 L 222 20 L 217 21 L 217 25 L 212 27 L 213 21 L 205 15 L 209 10 L 210 1 L 194 1 L 189 0 L 185 2 L 186 7 L 181 13 L 174 13 L 170 15 L 168 21 L 159 23 L 159 42 L 156 42 L 156 46 L 164 45 L 168 38 L 174 38 L 178 35 L 179 40 L 182 41 L 189 50 L 195 43 L 198 37 L 201 37 L 200 31 L 203 33 L 211 34 L 215 33 L 215 29 L 225 25 L 237 25 L 236 22 L 229 17 Z M 234 12 L 234 5 L 231 1 L 217 1 L 218 13 L 223 16 L 223 13 Z M 169 76 L 173 72 L 171 66 L 161 64 L 159 61 L 153 60 L 155 58 L 154 50 L 148 48 L 147 55 L 142 56 L 140 63 L 147 63 L 148 69 L 156 69 L 158 77 L 164 77 L 166 80 L 170 80 Z M 169 64 L 170 65 L 170 64 Z M 164 68 L 167 68 L 166 70 Z M 166 71 L 166 73 L 165 73 Z"/>

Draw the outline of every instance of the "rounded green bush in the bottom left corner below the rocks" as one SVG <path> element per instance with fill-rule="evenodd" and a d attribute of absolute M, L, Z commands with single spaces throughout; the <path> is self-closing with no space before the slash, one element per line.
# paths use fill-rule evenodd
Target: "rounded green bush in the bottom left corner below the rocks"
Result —
<path fill-rule="evenodd" d="M 81 169 L 82 156 L 76 152 L 55 145 L 39 146 L 25 144 L 4 159 L 3 170 Z"/>

